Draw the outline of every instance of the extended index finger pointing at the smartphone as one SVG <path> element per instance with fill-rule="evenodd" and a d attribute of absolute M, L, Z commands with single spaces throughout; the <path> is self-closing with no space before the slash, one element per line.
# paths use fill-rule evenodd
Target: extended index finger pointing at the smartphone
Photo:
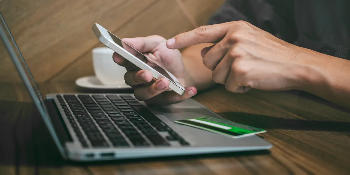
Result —
<path fill-rule="evenodd" d="M 229 28 L 232 27 L 232 22 L 201 26 L 191 31 L 181 33 L 167 41 L 169 49 L 180 49 L 190 45 L 200 43 L 213 43 L 222 40 Z"/>

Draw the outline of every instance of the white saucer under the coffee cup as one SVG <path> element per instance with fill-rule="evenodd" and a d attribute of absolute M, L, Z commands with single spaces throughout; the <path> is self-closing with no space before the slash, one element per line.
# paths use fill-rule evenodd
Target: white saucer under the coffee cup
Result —
<path fill-rule="evenodd" d="M 79 87 L 89 89 L 131 89 L 131 87 L 123 82 L 117 85 L 104 85 L 97 79 L 96 76 L 86 76 L 75 80 L 75 84 Z"/>

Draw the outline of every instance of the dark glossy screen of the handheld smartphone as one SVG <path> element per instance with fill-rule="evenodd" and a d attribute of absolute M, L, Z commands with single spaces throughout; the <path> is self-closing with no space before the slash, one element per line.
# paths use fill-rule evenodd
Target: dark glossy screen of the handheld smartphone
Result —
<path fill-rule="evenodd" d="M 107 30 L 108 31 L 108 30 Z M 108 33 L 110 34 L 110 36 L 112 37 L 113 41 L 118 44 L 120 47 L 123 47 L 125 50 L 127 50 L 128 52 L 130 52 L 131 54 L 133 54 L 135 57 L 137 57 L 138 59 L 140 59 L 141 61 L 147 63 L 148 61 L 152 61 L 151 59 L 149 59 L 148 57 L 146 57 L 144 54 L 142 54 L 141 52 L 139 52 L 138 50 L 136 50 L 135 48 L 131 47 L 131 45 L 127 44 L 126 42 L 122 41 L 119 37 L 117 37 L 116 35 L 110 33 L 108 31 Z M 153 61 L 152 61 L 153 62 Z M 153 69 L 155 69 L 156 71 L 158 71 L 159 73 L 161 73 L 163 76 L 167 77 L 170 81 L 172 81 L 174 84 L 175 81 L 173 80 L 172 77 L 170 77 L 170 75 L 168 74 L 168 71 L 166 71 L 165 69 L 163 69 L 161 66 L 159 66 L 157 63 L 153 62 L 154 64 L 156 64 L 157 66 L 151 66 Z M 148 64 L 149 65 L 149 64 Z M 176 81 L 177 82 L 177 81 Z"/>

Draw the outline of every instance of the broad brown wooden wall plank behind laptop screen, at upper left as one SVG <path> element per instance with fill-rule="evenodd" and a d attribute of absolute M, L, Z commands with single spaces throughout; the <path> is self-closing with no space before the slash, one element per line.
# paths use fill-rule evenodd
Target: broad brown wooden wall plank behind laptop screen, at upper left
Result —
<path fill-rule="evenodd" d="M 48 80 L 98 43 L 91 27 L 117 29 L 156 0 L 3 0 L 0 10 L 38 82 Z M 15 71 L 0 48 L 0 79 Z"/>

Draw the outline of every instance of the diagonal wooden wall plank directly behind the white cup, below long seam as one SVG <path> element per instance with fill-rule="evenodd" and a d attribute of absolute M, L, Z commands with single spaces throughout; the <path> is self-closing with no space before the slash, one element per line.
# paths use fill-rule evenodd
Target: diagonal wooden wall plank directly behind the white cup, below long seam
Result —
<path fill-rule="evenodd" d="M 161 35 L 165 38 L 170 38 L 191 29 L 193 29 L 191 23 L 182 13 L 176 1 L 162 0 L 130 21 L 127 25 L 123 26 L 123 28 L 111 31 L 121 38 L 148 35 Z M 100 46 L 102 46 L 102 44 L 96 45 L 96 47 Z M 79 77 L 87 75 L 94 75 L 91 51 L 83 55 L 76 63 L 53 78 L 53 80 L 74 81 Z"/>

